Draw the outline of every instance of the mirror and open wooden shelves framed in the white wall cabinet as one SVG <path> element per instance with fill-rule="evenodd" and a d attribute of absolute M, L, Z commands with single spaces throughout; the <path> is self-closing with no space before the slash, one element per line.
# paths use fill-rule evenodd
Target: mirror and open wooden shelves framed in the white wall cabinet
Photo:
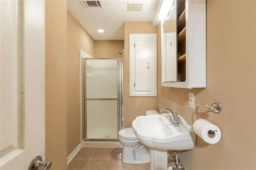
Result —
<path fill-rule="evenodd" d="M 162 82 L 186 81 L 185 24 L 185 1 L 175 0 L 162 25 Z"/>

